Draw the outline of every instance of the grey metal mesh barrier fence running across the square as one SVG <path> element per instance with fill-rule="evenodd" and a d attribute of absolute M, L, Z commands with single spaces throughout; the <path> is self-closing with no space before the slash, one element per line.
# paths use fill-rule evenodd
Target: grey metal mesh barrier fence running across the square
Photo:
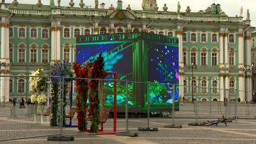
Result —
<path fill-rule="evenodd" d="M 20 76 L 12 76 L 9 78 L 19 79 L 19 77 Z M 51 77 L 47 78 L 50 79 Z M 60 90 L 58 92 L 60 105 L 57 110 L 58 118 L 60 119 L 58 127 L 51 127 L 49 125 L 51 114 L 49 116 L 42 116 L 42 113 L 45 113 L 47 108 L 52 105 L 52 83 L 49 82 L 45 89 L 45 95 L 47 95 L 49 99 L 47 100 L 47 105 L 42 108 L 40 106 L 35 108 L 35 105 L 26 105 L 23 108 L 23 106 L 20 107 L 18 103 L 16 106 L 13 106 L 12 101 L 5 106 L 0 106 L 0 141 L 40 136 L 87 134 L 77 132 L 79 131 L 78 129 L 77 131 L 68 129 L 68 127 L 77 127 L 79 124 L 79 119 L 77 119 L 77 106 L 79 106 L 79 102 L 77 101 L 76 83 L 77 81 L 85 80 L 95 81 L 95 83 L 97 83 L 95 88 L 102 90 L 101 94 L 97 93 L 100 95 L 100 110 L 98 112 L 100 113 L 102 108 L 111 109 L 106 123 L 99 125 L 99 129 L 103 132 L 131 132 L 138 131 L 139 127 L 140 129 L 153 131 L 154 129 L 152 128 L 163 127 L 164 125 L 184 125 L 192 122 L 202 123 L 207 120 L 216 120 L 221 118 L 221 115 L 232 120 L 237 120 L 237 118 L 255 118 L 256 116 L 256 105 L 253 104 L 253 102 L 239 102 L 238 98 L 241 92 L 233 89 L 212 90 L 211 88 L 203 88 L 204 90 L 202 92 L 202 88 L 198 86 L 193 88 L 187 87 L 190 90 L 193 89 L 193 95 L 192 93 L 188 93 L 184 95 L 186 99 L 180 100 L 179 89 L 184 88 L 184 86 L 176 84 L 157 83 L 156 81 L 139 83 L 115 80 L 111 76 L 106 77 L 106 79 L 79 79 L 76 77 L 54 78 L 60 79 L 58 83 L 58 87 L 60 88 L 58 89 Z M 22 76 L 22 79 L 28 80 L 29 76 Z M 63 92 L 65 89 L 63 86 L 64 81 L 68 81 L 67 92 Z M 89 90 L 88 85 L 89 83 L 81 86 L 81 89 Z M 200 93 L 198 90 L 201 90 Z M 223 98 L 225 100 L 223 102 L 215 101 L 215 99 L 219 97 L 221 90 L 223 90 Z M 20 93 L 17 93 L 17 95 L 11 93 L 10 99 L 13 99 L 13 97 L 24 97 L 28 99 L 28 97 L 31 97 L 31 94 L 26 92 L 21 93 L 22 95 L 20 95 Z M 89 95 L 88 91 L 84 92 L 87 92 L 86 95 Z M 67 95 L 64 95 L 64 93 L 67 93 Z M 194 100 L 192 100 L 192 98 L 194 98 Z M 67 103 L 63 103 L 65 99 L 67 99 Z M 87 97 L 87 99 L 89 98 Z M 116 107 L 114 104 L 115 99 Z M 5 104 L 5 102 L 1 104 Z M 76 109 L 74 115 L 70 118 L 65 117 L 72 108 Z M 90 125 L 92 124 L 91 121 L 89 121 L 90 117 L 88 117 L 88 113 L 90 109 L 88 108 L 90 108 L 90 106 L 87 103 L 86 111 L 84 111 L 88 120 L 86 129 L 90 129 Z M 35 115 L 35 113 L 41 115 Z M 63 126 L 65 128 L 61 126 L 63 120 L 66 122 L 66 125 Z"/>

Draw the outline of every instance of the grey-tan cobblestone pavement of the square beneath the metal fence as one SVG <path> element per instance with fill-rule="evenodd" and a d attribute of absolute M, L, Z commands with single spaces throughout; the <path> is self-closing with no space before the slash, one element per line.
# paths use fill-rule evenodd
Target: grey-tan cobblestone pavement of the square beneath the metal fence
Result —
<path fill-rule="evenodd" d="M 175 112 L 174 122 L 182 125 L 181 129 L 164 128 L 164 125 L 172 124 L 170 115 L 149 118 L 149 126 L 157 127 L 158 131 L 138 131 L 138 127 L 147 127 L 147 118 L 129 118 L 129 132 L 138 132 L 138 137 L 116 136 L 113 134 L 91 135 L 87 132 L 79 132 L 77 128 L 64 128 L 63 134 L 74 136 L 75 141 L 47 141 L 47 136 L 44 135 L 60 134 L 60 129 L 50 127 L 49 124 L 35 123 L 33 115 L 26 115 L 27 109 L 19 109 L 19 111 L 20 115 L 10 118 L 10 109 L 0 107 L 0 140 L 29 136 L 42 137 L 0 141 L 0 143 L 256 143 L 256 120 L 252 119 L 252 115 L 247 115 L 247 118 L 251 119 L 245 119 L 245 111 L 239 112 L 243 113 L 244 119 L 237 119 L 237 122 L 232 120 L 232 122 L 227 123 L 227 127 L 223 123 L 211 126 L 189 126 L 189 123 L 196 122 L 193 111 Z M 202 111 L 200 116 L 197 119 L 198 123 L 209 120 L 209 113 L 205 111 Z M 221 115 L 214 113 L 212 120 L 216 120 L 216 118 L 221 118 Z M 73 125 L 76 125 L 76 116 L 72 120 Z M 38 121 L 40 121 L 40 116 Z M 118 118 L 116 131 L 125 131 L 125 124 L 124 118 Z M 104 124 L 104 131 L 113 131 L 112 118 L 109 118 Z"/>

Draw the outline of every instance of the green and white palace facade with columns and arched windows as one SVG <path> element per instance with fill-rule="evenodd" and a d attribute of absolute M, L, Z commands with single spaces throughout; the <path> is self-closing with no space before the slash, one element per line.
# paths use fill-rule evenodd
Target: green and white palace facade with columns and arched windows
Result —
<path fill-rule="evenodd" d="M 204 11 L 169 12 L 156 0 L 141 1 L 141 10 L 116 7 L 95 0 L 93 8 L 1 3 L 1 77 L 0 99 L 29 97 L 31 70 L 42 66 L 49 72 L 52 61 L 76 61 L 76 36 L 106 33 L 148 32 L 179 38 L 180 95 L 191 100 L 252 99 L 252 62 L 250 14 L 229 17 L 220 4 Z M 193 86 L 193 87 L 191 87 Z M 211 99 L 210 99 L 211 95 Z M 194 97 L 195 98 L 195 97 Z"/>

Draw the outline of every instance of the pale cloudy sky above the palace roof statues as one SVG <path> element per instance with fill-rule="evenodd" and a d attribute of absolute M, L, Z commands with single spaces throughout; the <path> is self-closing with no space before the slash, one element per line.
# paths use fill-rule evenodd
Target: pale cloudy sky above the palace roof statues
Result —
<path fill-rule="evenodd" d="M 13 0 L 6 0 L 5 3 L 12 3 Z M 36 4 L 37 0 L 17 0 L 22 4 Z M 116 7 L 117 0 L 98 0 L 100 3 L 105 3 L 105 8 L 108 8 L 110 4 L 113 4 Z M 143 0 L 122 0 L 123 8 L 125 9 L 128 4 L 131 4 L 132 10 L 141 10 L 141 3 Z M 176 12 L 177 3 L 180 2 L 180 12 L 186 12 L 187 6 L 190 7 L 191 12 L 198 12 L 199 10 L 205 10 L 208 6 L 211 6 L 212 3 L 220 4 L 221 10 L 225 12 L 228 17 L 239 16 L 240 8 L 243 6 L 243 19 L 246 19 L 246 11 L 249 9 L 251 26 L 256 27 L 256 1 L 255 0 L 157 0 L 157 6 L 159 10 L 163 10 L 164 3 L 167 4 L 168 11 Z M 61 6 L 69 6 L 70 0 L 61 0 Z M 79 7 L 80 0 L 73 0 L 76 7 Z M 49 5 L 50 0 L 41 0 L 41 3 L 44 5 Z M 54 0 L 55 5 L 57 5 L 57 0 Z M 94 0 L 84 0 L 84 4 L 88 7 L 94 7 Z"/>

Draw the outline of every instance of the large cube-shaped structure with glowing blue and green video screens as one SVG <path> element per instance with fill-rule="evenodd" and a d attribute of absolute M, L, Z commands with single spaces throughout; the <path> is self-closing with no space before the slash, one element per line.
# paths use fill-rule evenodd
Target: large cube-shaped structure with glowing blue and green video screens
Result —
<path fill-rule="evenodd" d="M 172 107 L 172 85 L 179 84 L 179 39 L 150 33 L 117 33 L 77 36 L 76 61 L 95 59 L 102 52 L 105 70 L 129 82 L 129 112 Z M 163 84 L 166 83 L 166 84 Z M 109 90 L 105 90 L 105 87 Z M 119 89 L 119 90 L 118 90 Z M 104 83 L 104 107 L 113 107 L 113 83 Z M 110 93 L 109 93 L 110 92 Z M 112 92 L 112 93 L 111 93 Z M 117 106 L 125 104 L 125 82 L 117 82 Z M 179 99 L 179 86 L 175 100 Z M 179 102 L 176 102 L 179 107 Z"/>

